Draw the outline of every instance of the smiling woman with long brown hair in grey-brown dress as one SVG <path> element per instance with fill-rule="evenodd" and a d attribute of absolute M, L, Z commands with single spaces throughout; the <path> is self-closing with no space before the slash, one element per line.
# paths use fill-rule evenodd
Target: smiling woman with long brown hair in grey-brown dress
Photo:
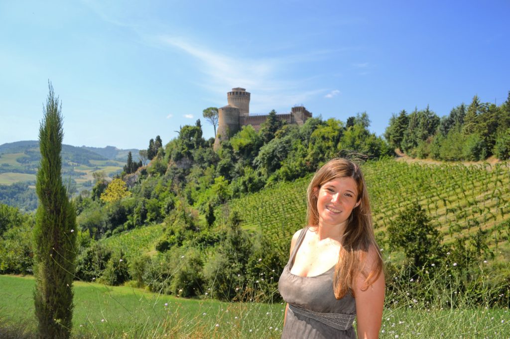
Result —
<path fill-rule="evenodd" d="M 282 338 L 377 338 L 385 279 L 365 179 L 358 165 L 334 159 L 307 191 L 308 227 L 292 237 L 278 282 L 287 302 Z"/>

